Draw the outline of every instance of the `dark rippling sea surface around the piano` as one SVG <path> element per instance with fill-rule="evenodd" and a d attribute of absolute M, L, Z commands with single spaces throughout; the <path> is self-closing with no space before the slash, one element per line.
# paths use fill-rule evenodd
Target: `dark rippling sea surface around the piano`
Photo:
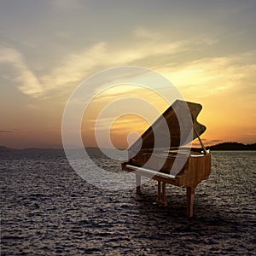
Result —
<path fill-rule="evenodd" d="M 0 154 L 1 255 L 256 255 L 255 170 L 255 151 L 212 152 L 189 219 L 183 188 L 167 185 L 158 207 L 155 181 L 108 191 L 59 150 Z"/>

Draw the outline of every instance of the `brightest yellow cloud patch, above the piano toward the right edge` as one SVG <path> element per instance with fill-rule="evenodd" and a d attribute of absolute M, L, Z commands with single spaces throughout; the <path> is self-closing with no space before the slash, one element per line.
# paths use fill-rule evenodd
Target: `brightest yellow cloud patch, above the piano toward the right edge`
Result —
<path fill-rule="evenodd" d="M 183 65 L 160 67 L 158 71 L 170 79 L 184 94 L 205 97 L 225 93 L 232 89 L 252 88 L 255 81 L 256 64 L 249 61 L 248 55 L 228 55 L 222 57 L 201 58 L 188 61 Z M 241 89 L 242 88 L 242 89 Z"/>

